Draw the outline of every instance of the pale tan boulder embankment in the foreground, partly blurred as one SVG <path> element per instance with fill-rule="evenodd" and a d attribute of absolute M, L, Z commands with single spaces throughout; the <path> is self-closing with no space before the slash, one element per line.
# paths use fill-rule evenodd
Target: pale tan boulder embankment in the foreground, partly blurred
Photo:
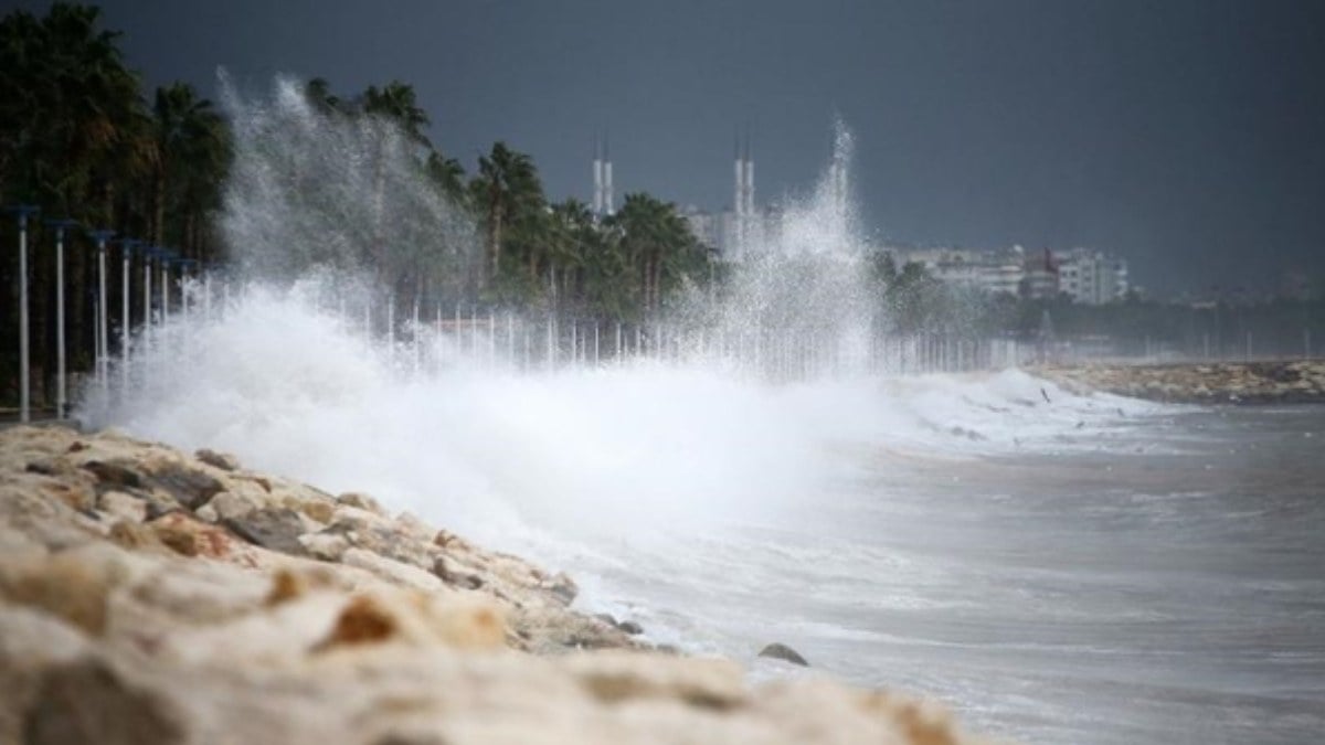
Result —
<path fill-rule="evenodd" d="M 753 687 L 575 594 L 224 453 L 0 431 L 0 742 L 979 741 L 901 693 Z"/>

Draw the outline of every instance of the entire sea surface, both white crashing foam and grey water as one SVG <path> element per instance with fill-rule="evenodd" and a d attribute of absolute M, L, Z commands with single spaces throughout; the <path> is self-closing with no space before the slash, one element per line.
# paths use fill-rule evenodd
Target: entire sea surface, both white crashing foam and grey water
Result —
<path fill-rule="evenodd" d="M 1023 742 L 1325 732 L 1322 408 L 1073 395 L 1016 370 L 774 384 L 401 354 L 254 290 L 176 322 L 82 415 L 370 492 L 755 679 L 924 692 Z M 757 660 L 770 642 L 811 669 Z"/>

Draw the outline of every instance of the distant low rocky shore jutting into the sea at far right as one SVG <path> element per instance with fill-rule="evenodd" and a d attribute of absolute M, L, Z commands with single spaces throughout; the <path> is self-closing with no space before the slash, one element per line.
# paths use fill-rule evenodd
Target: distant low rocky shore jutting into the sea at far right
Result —
<path fill-rule="evenodd" d="M 1073 391 L 1166 403 L 1325 403 L 1325 361 L 1045 366 L 1032 372 Z"/>

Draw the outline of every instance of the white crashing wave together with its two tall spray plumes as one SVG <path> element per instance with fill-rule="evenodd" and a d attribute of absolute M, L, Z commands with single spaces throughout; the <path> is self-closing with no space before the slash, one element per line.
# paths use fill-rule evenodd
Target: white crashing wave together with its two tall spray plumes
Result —
<path fill-rule="evenodd" d="M 1008 423 L 1018 443 L 1076 423 L 1023 415 L 1039 394 L 1026 380 L 986 400 L 979 382 L 881 387 L 864 374 L 872 298 L 841 125 L 815 191 L 787 204 L 776 233 L 750 239 L 727 292 L 657 319 L 652 355 L 608 363 L 574 327 L 580 342 L 558 347 L 554 318 L 443 313 L 439 298 L 466 289 L 473 225 L 420 184 L 411 143 L 386 121 L 319 111 L 285 78 L 269 98 L 227 87 L 225 99 L 229 301 L 199 298 L 216 312 L 144 334 L 119 362 L 132 384 L 87 392 L 94 424 L 229 449 L 517 547 L 533 533 L 603 545 L 775 524 L 825 498 L 851 472 L 844 452 L 969 452 L 1010 444 Z M 450 280 L 413 322 L 408 296 L 384 288 L 433 255 L 429 276 Z"/>

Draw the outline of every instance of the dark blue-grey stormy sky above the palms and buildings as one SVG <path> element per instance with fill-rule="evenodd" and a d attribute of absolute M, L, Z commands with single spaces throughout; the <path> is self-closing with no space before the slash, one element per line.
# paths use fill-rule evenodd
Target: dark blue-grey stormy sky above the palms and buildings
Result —
<path fill-rule="evenodd" d="M 148 82 L 399 78 L 440 147 L 505 139 L 554 199 L 591 196 L 602 127 L 617 195 L 725 207 L 738 126 L 758 198 L 803 191 L 840 113 L 884 239 L 1100 248 L 1161 293 L 1325 273 L 1316 0 L 102 5 Z"/>

